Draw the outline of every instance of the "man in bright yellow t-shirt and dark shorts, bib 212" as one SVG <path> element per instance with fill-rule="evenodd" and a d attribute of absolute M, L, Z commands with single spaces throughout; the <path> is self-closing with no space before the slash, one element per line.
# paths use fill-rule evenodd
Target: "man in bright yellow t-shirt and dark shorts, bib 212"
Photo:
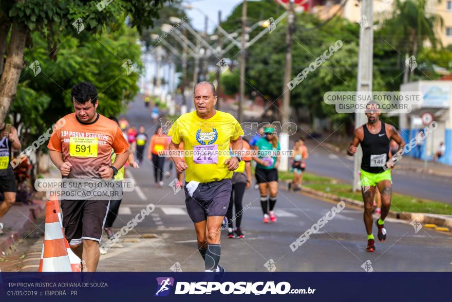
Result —
<path fill-rule="evenodd" d="M 168 133 L 170 154 L 179 173 L 185 172 L 185 205 L 195 224 L 198 250 L 206 272 L 224 272 L 220 227 L 229 206 L 232 171 L 238 168 L 243 148 L 243 130 L 229 113 L 217 111 L 215 86 L 195 86 L 196 111 L 180 116 Z M 183 141 L 184 158 L 178 154 Z M 229 151 L 229 146 L 233 150 Z"/>

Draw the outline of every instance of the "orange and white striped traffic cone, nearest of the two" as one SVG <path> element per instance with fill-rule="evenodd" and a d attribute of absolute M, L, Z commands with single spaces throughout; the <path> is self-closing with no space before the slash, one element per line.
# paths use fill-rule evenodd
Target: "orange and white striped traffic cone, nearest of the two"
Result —
<path fill-rule="evenodd" d="M 46 228 L 39 272 L 72 272 L 55 203 L 58 204 L 58 200 L 53 198 L 46 202 Z"/>

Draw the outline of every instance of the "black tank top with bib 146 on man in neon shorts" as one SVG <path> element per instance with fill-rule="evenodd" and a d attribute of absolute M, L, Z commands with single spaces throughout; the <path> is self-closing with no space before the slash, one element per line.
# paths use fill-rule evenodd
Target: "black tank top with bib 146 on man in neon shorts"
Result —
<path fill-rule="evenodd" d="M 369 173 L 384 172 L 383 166 L 389 160 L 389 138 L 386 135 L 385 123 L 381 122 L 381 125 L 380 132 L 376 134 L 370 133 L 366 124 L 363 125 L 364 139 L 361 141 L 361 148 L 363 149 L 361 169 Z"/>

